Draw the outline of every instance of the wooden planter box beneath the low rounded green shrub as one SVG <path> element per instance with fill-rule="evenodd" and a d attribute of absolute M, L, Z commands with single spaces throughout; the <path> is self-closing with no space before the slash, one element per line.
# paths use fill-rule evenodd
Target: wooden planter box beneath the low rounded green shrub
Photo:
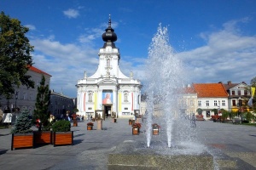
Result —
<path fill-rule="evenodd" d="M 54 132 L 53 133 L 53 144 L 54 144 L 54 146 L 55 145 L 64 145 L 64 144 L 73 145 L 73 131 Z"/>

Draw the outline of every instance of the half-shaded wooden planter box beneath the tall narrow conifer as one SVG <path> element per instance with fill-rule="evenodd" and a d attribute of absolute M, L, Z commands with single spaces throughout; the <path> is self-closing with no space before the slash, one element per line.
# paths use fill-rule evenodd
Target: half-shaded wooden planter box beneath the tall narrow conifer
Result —
<path fill-rule="evenodd" d="M 33 132 L 34 133 L 34 144 L 52 144 L 53 135 L 51 131 L 44 132 Z"/>

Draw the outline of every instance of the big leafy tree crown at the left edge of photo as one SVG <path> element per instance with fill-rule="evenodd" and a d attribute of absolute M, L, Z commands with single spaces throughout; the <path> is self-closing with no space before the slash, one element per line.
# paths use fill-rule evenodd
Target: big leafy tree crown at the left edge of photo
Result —
<path fill-rule="evenodd" d="M 0 14 L 0 95 L 11 99 L 15 87 L 25 85 L 34 88 L 31 77 L 26 75 L 32 65 L 30 53 L 33 47 L 25 36 L 29 31 L 20 25 L 20 20 L 11 19 L 3 12 Z"/>

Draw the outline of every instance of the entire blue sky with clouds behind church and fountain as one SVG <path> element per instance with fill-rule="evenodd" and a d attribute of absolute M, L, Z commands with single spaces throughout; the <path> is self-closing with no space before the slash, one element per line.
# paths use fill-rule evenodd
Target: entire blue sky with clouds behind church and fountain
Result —
<path fill-rule="evenodd" d="M 192 82 L 247 82 L 256 77 L 255 0 L 0 0 L 0 11 L 30 31 L 34 66 L 50 88 L 76 97 L 75 84 L 95 73 L 108 14 L 118 36 L 120 70 L 144 81 L 148 47 L 167 26 L 175 54 Z"/>

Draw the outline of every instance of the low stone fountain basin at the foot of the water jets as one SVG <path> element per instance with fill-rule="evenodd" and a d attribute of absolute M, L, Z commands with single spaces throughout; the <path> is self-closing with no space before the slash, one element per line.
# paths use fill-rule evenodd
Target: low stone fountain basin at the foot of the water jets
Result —
<path fill-rule="evenodd" d="M 108 169 L 214 169 L 213 157 L 207 151 L 193 155 L 177 150 L 187 149 L 176 146 L 164 147 L 161 151 L 159 146 L 147 148 L 140 142 L 124 142 L 108 155 Z"/>

